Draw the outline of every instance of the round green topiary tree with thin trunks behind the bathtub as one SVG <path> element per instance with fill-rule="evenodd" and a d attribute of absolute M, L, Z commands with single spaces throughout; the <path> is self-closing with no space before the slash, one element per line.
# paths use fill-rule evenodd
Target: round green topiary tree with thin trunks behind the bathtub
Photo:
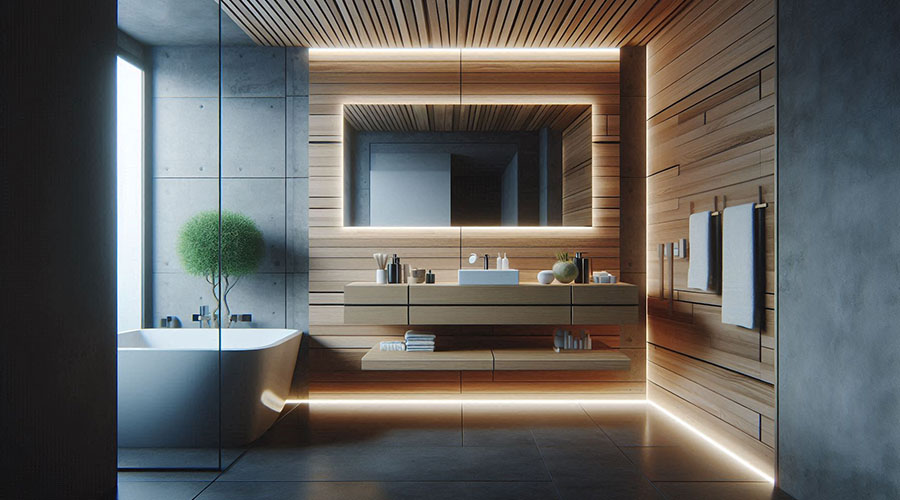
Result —
<path fill-rule="evenodd" d="M 219 325 L 219 303 L 225 306 L 226 323 L 231 326 L 231 309 L 228 292 L 242 276 L 253 274 L 262 260 L 264 247 L 262 233 L 246 215 L 223 210 L 222 269 L 219 271 L 219 212 L 200 212 L 185 222 L 178 235 L 178 256 L 188 274 L 202 276 L 212 285 L 216 310 L 213 321 Z M 219 281 L 221 277 L 221 282 Z M 219 300 L 219 291 L 222 296 Z"/>

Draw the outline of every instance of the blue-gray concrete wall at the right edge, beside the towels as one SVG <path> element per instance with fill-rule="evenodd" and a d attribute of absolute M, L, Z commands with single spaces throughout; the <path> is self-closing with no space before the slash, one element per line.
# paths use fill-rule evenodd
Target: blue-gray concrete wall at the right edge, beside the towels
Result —
<path fill-rule="evenodd" d="M 900 498 L 900 8 L 778 9 L 778 472 Z"/>

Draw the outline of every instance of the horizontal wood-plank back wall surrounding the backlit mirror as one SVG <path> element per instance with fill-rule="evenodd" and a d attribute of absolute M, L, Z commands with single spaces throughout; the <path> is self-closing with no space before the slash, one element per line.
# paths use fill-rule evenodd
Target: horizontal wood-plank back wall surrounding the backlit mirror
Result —
<path fill-rule="evenodd" d="M 530 52 L 311 50 L 310 69 L 310 334 L 311 391 L 568 392 L 644 397 L 644 339 L 624 343 L 629 372 L 478 374 L 361 372 L 366 349 L 405 328 L 343 324 L 343 286 L 373 281 L 372 253 L 397 253 L 455 282 L 463 257 L 506 252 L 522 281 L 536 281 L 558 251 L 582 250 L 595 269 L 619 271 L 618 54 L 615 51 Z M 558 83 L 568 82 L 568 83 Z M 589 194 L 593 224 L 562 228 L 343 227 L 344 104 L 588 104 L 592 151 Z M 467 264 L 468 265 L 468 264 Z M 552 327 L 432 328 L 453 345 L 550 346 Z M 621 327 L 588 330 L 620 346 Z"/>

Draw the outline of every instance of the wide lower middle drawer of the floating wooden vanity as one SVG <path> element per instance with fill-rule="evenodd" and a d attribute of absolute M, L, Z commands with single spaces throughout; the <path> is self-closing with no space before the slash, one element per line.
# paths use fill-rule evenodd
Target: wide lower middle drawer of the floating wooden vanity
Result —
<path fill-rule="evenodd" d="M 561 325 L 565 306 L 409 306 L 411 325 Z"/>

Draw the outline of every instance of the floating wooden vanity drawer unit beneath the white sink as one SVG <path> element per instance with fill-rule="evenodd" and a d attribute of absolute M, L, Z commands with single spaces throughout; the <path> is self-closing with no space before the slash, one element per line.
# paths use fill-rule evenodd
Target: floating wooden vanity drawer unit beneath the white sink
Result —
<path fill-rule="evenodd" d="M 628 283 L 344 286 L 347 325 L 620 325 L 637 323 Z"/>

